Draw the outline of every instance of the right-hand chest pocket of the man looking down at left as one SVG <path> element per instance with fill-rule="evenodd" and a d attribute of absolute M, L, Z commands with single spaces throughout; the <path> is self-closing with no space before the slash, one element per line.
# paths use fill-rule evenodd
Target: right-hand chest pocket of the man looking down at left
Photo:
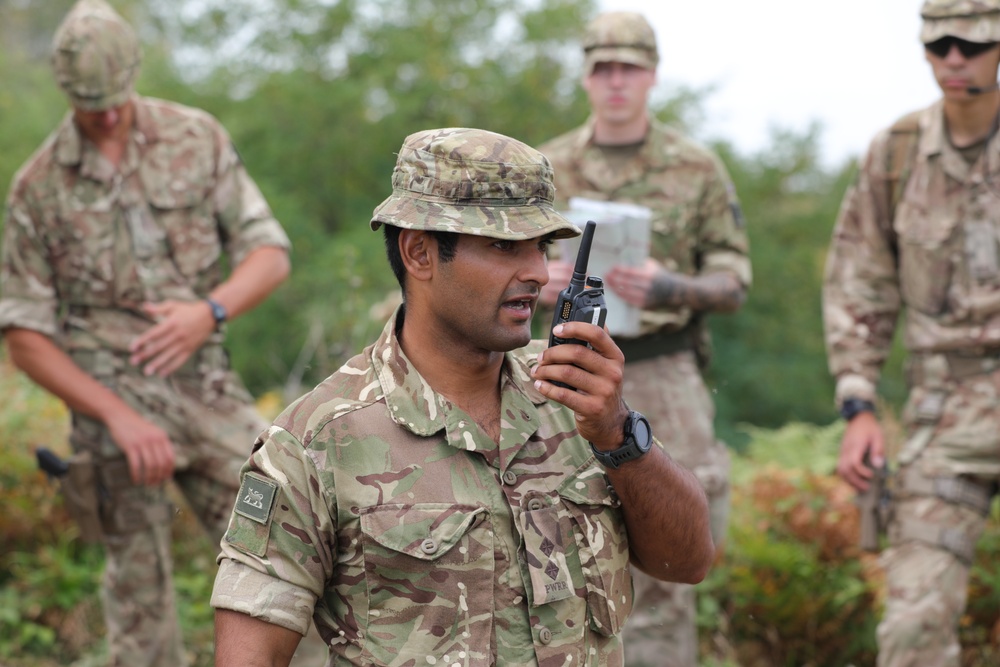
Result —
<path fill-rule="evenodd" d="M 180 273 L 192 278 L 218 264 L 222 246 L 211 196 L 211 142 L 191 137 L 157 144 L 146 154 L 140 176 L 155 227 Z"/>

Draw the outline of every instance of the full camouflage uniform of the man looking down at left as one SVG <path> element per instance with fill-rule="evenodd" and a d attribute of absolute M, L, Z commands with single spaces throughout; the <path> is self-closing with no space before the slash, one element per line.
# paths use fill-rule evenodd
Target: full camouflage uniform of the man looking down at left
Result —
<path fill-rule="evenodd" d="M 81 3 L 64 25 L 73 25 L 74 17 L 91 20 L 93 12 L 112 20 L 105 8 Z M 118 85 L 131 91 L 133 75 Z M 219 539 L 240 466 L 266 423 L 229 370 L 222 333 L 167 379 L 132 366 L 128 344 L 152 324 L 143 302 L 200 300 L 223 279 L 223 255 L 235 266 L 256 248 L 287 247 L 288 239 L 218 122 L 202 111 L 129 94 L 135 126 L 117 170 L 69 115 L 15 177 L 4 229 L 0 330 L 51 337 L 164 429 L 177 448 L 174 481 Z M 112 663 L 186 664 L 166 487 L 133 485 L 103 424 L 72 417 L 73 449 L 101 462 Z"/>

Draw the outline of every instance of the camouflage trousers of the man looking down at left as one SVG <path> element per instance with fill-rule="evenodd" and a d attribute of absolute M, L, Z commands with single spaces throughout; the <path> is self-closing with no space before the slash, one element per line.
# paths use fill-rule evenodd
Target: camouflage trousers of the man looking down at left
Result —
<path fill-rule="evenodd" d="M 176 456 L 173 482 L 216 548 L 236 501 L 240 468 L 266 427 L 239 378 L 225 370 L 221 359 L 207 370 L 182 370 L 161 379 L 127 369 L 110 353 L 77 353 L 74 358 L 169 434 Z M 89 417 L 73 415 L 71 443 L 74 451 L 87 451 L 98 462 L 106 561 L 101 595 L 111 664 L 187 665 L 170 550 L 177 510 L 167 486 L 132 484 L 107 429 Z M 215 553 L 207 555 L 214 562 Z M 313 644 L 319 642 L 315 632 L 310 636 L 316 640 Z M 309 643 L 306 647 L 315 648 Z M 320 643 L 319 648 L 309 662 L 293 664 L 324 664 L 325 647 Z"/>

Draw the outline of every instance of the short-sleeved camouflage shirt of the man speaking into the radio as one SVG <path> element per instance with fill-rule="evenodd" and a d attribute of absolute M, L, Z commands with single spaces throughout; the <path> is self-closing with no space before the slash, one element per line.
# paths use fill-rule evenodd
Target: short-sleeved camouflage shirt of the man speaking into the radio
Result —
<path fill-rule="evenodd" d="M 499 446 L 394 331 L 261 435 L 212 604 L 305 634 L 328 665 L 620 665 L 620 505 L 573 413 L 507 355 Z"/>

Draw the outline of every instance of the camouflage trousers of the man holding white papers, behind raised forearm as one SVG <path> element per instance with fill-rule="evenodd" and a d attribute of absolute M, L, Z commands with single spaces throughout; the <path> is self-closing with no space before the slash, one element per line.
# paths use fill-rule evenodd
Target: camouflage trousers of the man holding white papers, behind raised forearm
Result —
<path fill-rule="evenodd" d="M 625 366 L 625 400 L 649 419 L 667 452 L 694 472 L 709 499 L 712 537 L 721 548 L 729 518 L 729 452 L 715 439 L 715 407 L 693 352 Z M 625 625 L 627 667 L 695 667 L 695 589 L 632 570 L 635 604 Z"/>

